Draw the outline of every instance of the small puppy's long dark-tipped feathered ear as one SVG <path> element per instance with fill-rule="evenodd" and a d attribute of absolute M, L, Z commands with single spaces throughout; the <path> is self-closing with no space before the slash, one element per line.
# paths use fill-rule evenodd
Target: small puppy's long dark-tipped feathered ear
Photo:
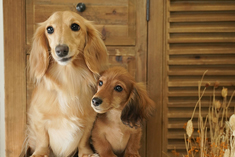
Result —
<path fill-rule="evenodd" d="M 147 95 L 141 83 L 136 83 L 129 100 L 122 110 L 121 120 L 130 127 L 139 127 L 142 120 L 153 113 L 154 102 Z"/>

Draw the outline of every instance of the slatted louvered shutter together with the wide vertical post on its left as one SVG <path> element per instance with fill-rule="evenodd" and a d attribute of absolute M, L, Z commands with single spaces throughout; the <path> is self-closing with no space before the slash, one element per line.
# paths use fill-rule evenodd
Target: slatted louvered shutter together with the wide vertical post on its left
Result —
<path fill-rule="evenodd" d="M 222 87 L 228 88 L 227 99 L 234 91 L 235 1 L 159 0 L 150 1 L 150 6 L 156 11 L 148 26 L 148 84 L 158 114 L 151 120 L 156 125 L 147 129 L 147 156 L 174 156 L 173 150 L 182 156 L 186 155 L 183 126 L 198 101 L 203 73 L 208 70 L 201 90 L 210 84 L 202 99 L 204 117 L 216 81 L 216 99 L 222 99 Z M 230 106 L 234 108 L 234 98 Z M 195 137 L 197 115 L 198 111 L 193 120 Z"/>

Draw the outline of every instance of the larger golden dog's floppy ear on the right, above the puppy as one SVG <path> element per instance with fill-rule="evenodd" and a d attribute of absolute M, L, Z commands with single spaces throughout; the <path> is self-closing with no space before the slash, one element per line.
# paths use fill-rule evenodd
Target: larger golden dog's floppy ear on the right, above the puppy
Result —
<path fill-rule="evenodd" d="M 95 74 L 106 69 L 107 66 L 107 49 L 100 37 L 100 33 L 91 24 L 85 22 L 87 28 L 87 39 L 84 48 L 84 57 L 88 68 Z"/>

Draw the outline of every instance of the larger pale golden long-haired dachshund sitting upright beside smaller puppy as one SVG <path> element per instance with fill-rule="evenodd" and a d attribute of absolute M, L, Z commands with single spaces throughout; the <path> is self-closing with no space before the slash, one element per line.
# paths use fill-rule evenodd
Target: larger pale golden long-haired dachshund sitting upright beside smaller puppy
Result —
<path fill-rule="evenodd" d="M 36 80 L 28 112 L 32 157 L 50 149 L 66 157 L 92 155 L 89 137 L 96 112 L 90 101 L 107 50 L 94 26 L 75 12 L 55 12 L 37 28 L 29 58 Z"/>

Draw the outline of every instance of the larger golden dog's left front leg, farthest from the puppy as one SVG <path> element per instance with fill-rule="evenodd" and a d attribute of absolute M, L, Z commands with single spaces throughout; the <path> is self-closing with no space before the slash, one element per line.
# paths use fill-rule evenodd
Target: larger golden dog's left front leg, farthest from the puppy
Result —
<path fill-rule="evenodd" d="M 50 153 L 49 138 L 44 125 L 34 126 L 34 132 L 36 135 L 36 148 L 31 157 L 48 157 Z"/>

